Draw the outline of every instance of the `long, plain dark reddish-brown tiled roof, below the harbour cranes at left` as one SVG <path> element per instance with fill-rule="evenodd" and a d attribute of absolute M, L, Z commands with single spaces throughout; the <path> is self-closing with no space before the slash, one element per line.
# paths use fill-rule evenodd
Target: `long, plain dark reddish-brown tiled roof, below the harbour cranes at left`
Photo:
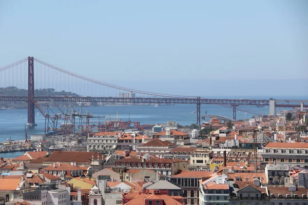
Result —
<path fill-rule="evenodd" d="M 67 151 L 53 151 L 47 158 L 46 162 L 80 162 L 91 163 L 92 155 L 94 159 L 98 158 L 98 152 L 67 152 Z M 99 154 L 100 159 L 104 158 L 102 154 Z"/>

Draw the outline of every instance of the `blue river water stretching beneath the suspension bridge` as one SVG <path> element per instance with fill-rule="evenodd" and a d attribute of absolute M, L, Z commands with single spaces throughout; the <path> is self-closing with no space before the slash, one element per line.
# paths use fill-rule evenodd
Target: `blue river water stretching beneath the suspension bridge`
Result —
<path fill-rule="evenodd" d="M 268 99 L 257 97 L 257 99 Z M 294 97 L 285 99 L 296 99 Z M 297 99 L 304 99 L 297 98 Z M 306 97 L 305 97 L 306 99 Z M 268 114 L 268 107 L 256 107 L 256 106 L 239 106 L 240 109 L 253 110 L 258 113 Z M 130 117 L 131 121 L 140 121 L 140 124 L 161 124 L 169 120 L 176 121 L 180 125 L 191 125 L 196 123 L 196 105 L 170 105 L 170 106 L 103 106 L 103 107 L 86 107 L 84 110 L 88 110 L 94 116 L 105 116 L 110 118 L 110 114 L 113 118 L 116 118 L 117 111 L 119 112 L 119 118 L 122 121 L 128 120 Z M 279 108 L 279 110 L 287 110 L 286 108 Z M 56 108 L 52 109 L 54 113 L 60 113 Z M 78 110 L 78 109 L 76 109 Z M 279 111 L 278 110 L 278 111 Z M 226 108 L 220 105 L 201 105 L 201 115 L 205 114 L 216 114 L 232 118 L 233 113 L 231 108 Z M 37 113 L 37 110 L 35 110 Z M 237 110 L 237 119 L 247 119 L 252 117 L 254 114 Z M 23 116 L 23 117 L 22 117 Z M 98 124 L 98 119 L 91 119 L 90 123 Z M 203 121 L 208 121 L 205 119 Z M 104 120 L 102 119 L 102 122 Z M 31 134 L 42 134 L 44 133 L 45 118 L 41 113 L 35 116 L 35 122 L 37 124 L 34 128 L 28 128 L 28 136 Z M 59 123 L 63 122 L 62 119 Z M 25 137 L 25 127 L 27 123 L 27 109 L 12 109 L 12 110 L 0 110 L 0 141 L 4 141 L 7 138 L 12 140 L 21 140 Z M 5 153 L 0 154 L 1 157 L 14 157 L 19 156 L 21 153 Z"/>

